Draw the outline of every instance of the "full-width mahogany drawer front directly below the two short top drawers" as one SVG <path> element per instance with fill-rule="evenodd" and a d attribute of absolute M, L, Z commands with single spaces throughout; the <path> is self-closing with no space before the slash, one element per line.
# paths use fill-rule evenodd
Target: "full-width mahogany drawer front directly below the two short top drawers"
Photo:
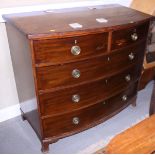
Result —
<path fill-rule="evenodd" d="M 38 89 L 45 90 L 77 85 L 114 75 L 119 70 L 135 63 L 142 65 L 143 51 L 143 46 L 138 46 L 87 61 L 37 68 Z"/>

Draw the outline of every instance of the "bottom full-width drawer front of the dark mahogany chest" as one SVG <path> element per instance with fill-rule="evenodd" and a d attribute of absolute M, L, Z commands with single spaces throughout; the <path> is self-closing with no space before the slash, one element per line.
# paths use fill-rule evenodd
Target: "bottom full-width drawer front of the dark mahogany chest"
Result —
<path fill-rule="evenodd" d="M 104 118 L 127 105 L 127 101 L 136 94 L 137 84 L 105 102 L 91 107 L 42 120 L 44 137 L 63 136 L 76 133 L 100 123 Z"/>

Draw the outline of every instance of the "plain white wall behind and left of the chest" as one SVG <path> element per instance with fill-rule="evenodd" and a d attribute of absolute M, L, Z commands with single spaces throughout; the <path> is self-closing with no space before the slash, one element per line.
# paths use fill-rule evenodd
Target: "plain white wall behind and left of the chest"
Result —
<path fill-rule="evenodd" d="M 86 0 L 0 0 L 0 11 L 3 8 L 37 5 L 37 4 L 53 4 L 62 2 L 84 2 Z M 93 2 L 94 0 L 92 0 Z M 104 4 L 118 3 L 130 6 L 132 0 L 101 0 Z M 21 66 L 22 67 L 22 66 Z M 16 91 L 15 79 L 11 63 L 10 51 L 8 46 L 5 23 L 0 23 L 0 110 L 3 108 L 19 104 Z"/>

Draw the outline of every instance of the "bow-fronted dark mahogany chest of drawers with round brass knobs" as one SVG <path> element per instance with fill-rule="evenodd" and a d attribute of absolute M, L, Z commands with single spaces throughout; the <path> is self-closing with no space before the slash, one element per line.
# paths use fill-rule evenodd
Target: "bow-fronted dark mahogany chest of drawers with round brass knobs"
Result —
<path fill-rule="evenodd" d="M 151 16 L 106 5 L 4 18 L 21 111 L 42 151 L 135 105 Z"/>

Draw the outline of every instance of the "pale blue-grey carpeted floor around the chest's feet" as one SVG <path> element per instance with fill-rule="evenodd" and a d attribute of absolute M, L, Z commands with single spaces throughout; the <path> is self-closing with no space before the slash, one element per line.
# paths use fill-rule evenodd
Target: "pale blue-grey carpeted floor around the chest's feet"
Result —
<path fill-rule="evenodd" d="M 148 117 L 153 83 L 138 94 L 137 107 L 129 106 L 108 121 L 50 145 L 49 153 L 93 153 L 116 134 Z M 0 153 L 41 153 L 41 144 L 27 121 L 20 117 L 0 123 Z"/>

